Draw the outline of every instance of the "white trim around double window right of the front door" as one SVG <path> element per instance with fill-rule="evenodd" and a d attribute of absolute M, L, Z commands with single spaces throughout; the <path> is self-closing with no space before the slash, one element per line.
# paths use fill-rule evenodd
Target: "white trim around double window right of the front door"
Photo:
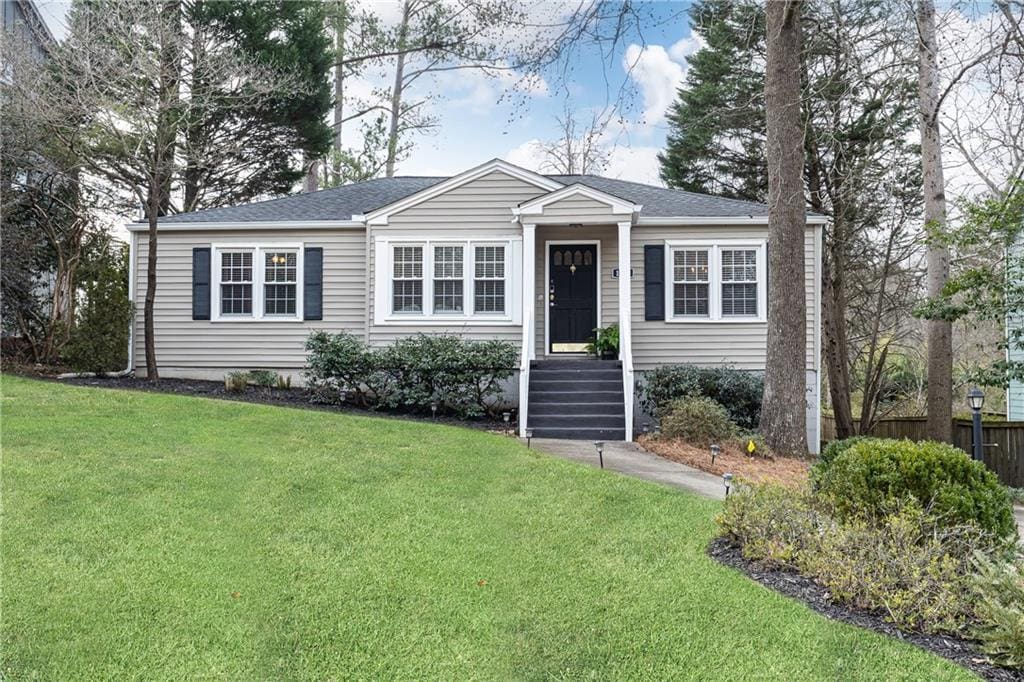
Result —
<path fill-rule="evenodd" d="M 767 321 L 768 279 L 767 273 L 767 240 L 667 240 L 665 247 L 668 253 L 665 258 L 665 321 L 670 324 L 750 324 Z M 675 252 L 686 249 L 707 249 L 709 268 L 709 303 L 708 315 L 677 315 L 675 314 L 675 287 L 673 265 Z M 758 252 L 758 314 L 757 315 L 723 315 L 722 314 L 722 250 L 754 249 Z"/>

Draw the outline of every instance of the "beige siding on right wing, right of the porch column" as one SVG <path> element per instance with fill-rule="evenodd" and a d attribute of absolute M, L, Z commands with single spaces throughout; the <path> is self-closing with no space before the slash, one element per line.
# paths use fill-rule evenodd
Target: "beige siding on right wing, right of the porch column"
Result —
<path fill-rule="evenodd" d="M 814 228 L 804 241 L 807 302 L 807 368 L 816 369 L 816 282 Z M 673 240 L 764 240 L 767 227 L 678 226 L 633 228 L 633 364 L 637 370 L 659 365 L 693 364 L 732 366 L 740 370 L 764 370 L 768 328 L 765 323 L 647 322 L 644 319 L 643 247 Z M 668 252 L 666 253 L 668 258 Z M 763 285 L 762 285 L 763 286 Z"/>

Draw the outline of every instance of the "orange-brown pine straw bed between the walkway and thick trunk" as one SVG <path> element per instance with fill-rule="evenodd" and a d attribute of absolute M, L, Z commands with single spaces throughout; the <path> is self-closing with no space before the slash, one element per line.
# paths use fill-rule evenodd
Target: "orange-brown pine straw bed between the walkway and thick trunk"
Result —
<path fill-rule="evenodd" d="M 808 460 L 794 457 L 750 457 L 736 442 L 722 443 L 722 452 L 711 462 L 711 451 L 682 440 L 640 436 L 637 441 L 648 451 L 673 462 L 713 473 L 729 472 L 752 483 L 781 483 L 798 486 L 807 480 Z"/>

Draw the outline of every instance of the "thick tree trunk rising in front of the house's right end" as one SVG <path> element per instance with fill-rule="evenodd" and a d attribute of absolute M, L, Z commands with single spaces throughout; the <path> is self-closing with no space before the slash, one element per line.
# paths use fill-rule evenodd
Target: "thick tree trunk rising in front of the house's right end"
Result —
<path fill-rule="evenodd" d="M 768 159 L 768 354 L 761 431 L 769 447 L 807 453 L 804 127 L 799 0 L 765 9 Z"/>

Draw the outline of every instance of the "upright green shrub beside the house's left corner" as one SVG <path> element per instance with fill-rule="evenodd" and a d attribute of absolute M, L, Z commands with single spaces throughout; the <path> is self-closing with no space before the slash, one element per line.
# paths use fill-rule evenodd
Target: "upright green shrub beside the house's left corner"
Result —
<path fill-rule="evenodd" d="M 81 285 L 83 302 L 65 349 L 68 365 L 79 372 L 105 374 L 128 365 L 128 337 L 135 306 L 116 254 L 96 266 Z"/>

